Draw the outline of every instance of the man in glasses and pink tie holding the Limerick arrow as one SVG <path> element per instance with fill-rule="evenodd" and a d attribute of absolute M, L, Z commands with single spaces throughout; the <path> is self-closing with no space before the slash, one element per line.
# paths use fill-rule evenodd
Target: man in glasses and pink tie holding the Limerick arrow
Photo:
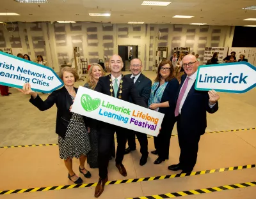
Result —
<path fill-rule="evenodd" d="M 182 75 L 177 96 L 175 116 L 180 145 L 179 164 L 168 166 L 169 170 L 192 172 L 197 158 L 198 142 L 207 126 L 206 112 L 213 114 L 218 110 L 220 96 L 215 91 L 196 91 L 196 71 L 199 66 L 194 55 L 182 59 L 185 75 Z"/>

